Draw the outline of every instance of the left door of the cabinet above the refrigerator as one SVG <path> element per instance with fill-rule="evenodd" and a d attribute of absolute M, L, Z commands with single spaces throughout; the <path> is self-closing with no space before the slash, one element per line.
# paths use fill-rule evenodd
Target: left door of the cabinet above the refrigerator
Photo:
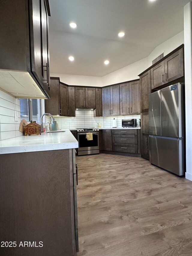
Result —
<path fill-rule="evenodd" d="M 164 61 L 151 69 L 151 88 L 156 88 L 165 83 Z"/>

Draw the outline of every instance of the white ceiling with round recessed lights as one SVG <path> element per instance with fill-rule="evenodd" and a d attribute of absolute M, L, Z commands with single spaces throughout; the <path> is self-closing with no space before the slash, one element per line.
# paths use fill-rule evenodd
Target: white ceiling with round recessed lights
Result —
<path fill-rule="evenodd" d="M 184 29 L 183 6 L 188 2 L 49 0 L 50 71 L 102 77 L 143 59 Z M 76 29 L 70 28 L 72 21 Z M 120 31 L 124 38 L 118 37 Z"/>

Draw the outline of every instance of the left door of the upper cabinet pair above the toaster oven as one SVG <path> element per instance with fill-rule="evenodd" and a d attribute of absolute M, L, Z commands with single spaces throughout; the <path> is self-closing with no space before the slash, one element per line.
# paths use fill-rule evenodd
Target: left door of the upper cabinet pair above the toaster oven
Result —
<path fill-rule="evenodd" d="M 120 115 L 129 115 L 130 114 L 129 83 L 124 83 L 119 85 L 119 100 L 120 100 Z"/>

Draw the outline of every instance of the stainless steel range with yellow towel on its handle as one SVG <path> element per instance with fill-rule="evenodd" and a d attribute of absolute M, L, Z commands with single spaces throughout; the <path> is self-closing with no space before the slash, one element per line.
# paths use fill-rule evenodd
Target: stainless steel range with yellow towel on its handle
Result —
<path fill-rule="evenodd" d="M 86 135 L 91 132 L 92 140 L 87 140 Z M 77 140 L 79 142 L 78 155 L 99 154 L 99 129 L 79 128 L 77 129 Z"/>

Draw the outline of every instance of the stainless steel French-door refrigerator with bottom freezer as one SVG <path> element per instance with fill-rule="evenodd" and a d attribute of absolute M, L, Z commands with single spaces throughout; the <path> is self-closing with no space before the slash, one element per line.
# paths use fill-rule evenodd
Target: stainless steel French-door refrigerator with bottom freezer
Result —
<path fill-rule="evenodd" d="M 179 176 L 184 174 L 183 90 L 176 83 L 149 94 L 149 161 Z"/>

